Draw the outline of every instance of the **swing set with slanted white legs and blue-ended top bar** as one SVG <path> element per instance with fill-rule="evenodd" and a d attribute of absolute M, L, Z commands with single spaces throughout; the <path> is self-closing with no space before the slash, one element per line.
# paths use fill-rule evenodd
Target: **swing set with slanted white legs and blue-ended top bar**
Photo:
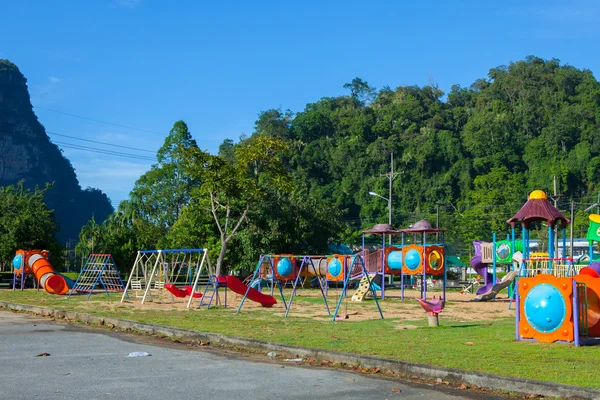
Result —
<path fill-rule="evenodd" d="M 141 297 L 142 304 L 148 298 L 152 298 L 152 291 L 171 288 L 170 293 L 174 296 L 173 292 L 181 294 L 175 290 L 174 285 L 183 280 L 185 285 L 191 286 L 189 293 L 186 290 L 189 296 L 187 308 L 190 308 L 192 300 L 198 298 L 198 280 L 203 271 L 209 276 L 214 275 L 208 249 L 140 250 L 129 274 L 121 302 L 125 297 L 129 297 L 130 291 L 134 293 L 135 298 Z M 207 290 L 208 284 L 205 292 Z"/>

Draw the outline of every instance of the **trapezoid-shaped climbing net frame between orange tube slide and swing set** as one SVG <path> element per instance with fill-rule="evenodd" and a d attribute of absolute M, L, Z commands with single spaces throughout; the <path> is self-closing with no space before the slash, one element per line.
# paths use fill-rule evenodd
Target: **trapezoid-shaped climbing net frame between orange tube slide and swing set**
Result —
<path fill-rule="evenodd" d="M 104 289 L 107 296 L 109 292 L 125 291 L 117 264 L 110 254 L 89 255 L 68 298 L 74 293 L 87 293 L 89 299 L 97 287 Z"/>

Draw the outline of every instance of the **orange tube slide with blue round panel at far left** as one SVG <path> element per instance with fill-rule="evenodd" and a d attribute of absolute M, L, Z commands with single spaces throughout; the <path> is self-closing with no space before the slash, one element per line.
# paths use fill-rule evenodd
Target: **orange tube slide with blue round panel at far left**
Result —
<path fill-rule="evenodd" d="M 67 294 L 69 287 L 67 281 L 57 274 L 48 261 L 48 252 L 45 250 L 17 250 L 13 259 L 15 272 L 18 275 L 31 274 L 48 293 Z M 25 269 L 25 271 L 23 271 Z"/>

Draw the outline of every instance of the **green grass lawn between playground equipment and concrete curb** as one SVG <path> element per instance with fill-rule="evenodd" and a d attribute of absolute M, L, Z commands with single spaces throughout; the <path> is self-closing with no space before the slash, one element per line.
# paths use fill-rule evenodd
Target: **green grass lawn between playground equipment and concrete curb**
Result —
<path fill-rule="evenodd" d="M 114 294 L 109 297 L 95 294 L 90 300 L 85 300 L 85 296 L 67 300 L 66 296 L 52 296 L 34 290 L 2 290 L 0 300 L 290 345 L 600 388 L 600 380 L 593 372 L 593 366 L 600 360 L 600 347 L 576 348 L 563 344 L 517 342 L 514 318 L 452 322 L 445 319 L 442 313 L 442 326 L 429 328 L 425 314 L 416 321 L 388 318 L 332 323 L 306 316 L 283 318 L 281 311 L 275 312 L 275 309 L 243 309 L 237 315 L 234 314 L 235 307 L 187 311 L 174 307 L 169 309 L 168 306 L 163 309 L 140 309 L 138 303 L 118 303 L 120 296 Z M 314 301 L 296 297 L 294 304 L 310 305 Z M 386 299 L 382 305 L 384 308 L 404 306 L 396 299 Z M 362 306 L 373 308 L 374 304 L 367 301 Z"/>

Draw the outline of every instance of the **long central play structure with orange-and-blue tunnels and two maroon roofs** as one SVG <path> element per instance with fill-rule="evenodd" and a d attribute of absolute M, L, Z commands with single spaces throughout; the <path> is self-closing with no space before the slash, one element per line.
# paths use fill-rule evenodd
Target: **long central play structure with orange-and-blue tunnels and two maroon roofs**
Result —
<path fill-rule="evenodd" d="M 385 297 L 385 277 L 400 275 L 400 297 L 404 300 L 404 276 L 407 275 L 421 278 L 420 299 L 422 304 L 428 304 L 426 300 L 427 277 L 442 278 L 442 296 L 440 300 L 430 303 L 430 307 L 435 309 L 437 314 L 443 309 L 446 297 L 444 232 L 443 229 L 434 229 L 427 221 L 419 221 L 408 229 L 398 231 L 392 229 L 390 225 L 378 224 L 372 229 L 362 232 L 363 251 L 359 254 L 263 255 L 249 281 L 238 312 L 242 309 L 245 299 L 249 298 L 248 294 L 256 294 L 251 292 L 251 289 L 256 286 L 260 290 L 261 283 L 266 281 L 270 284 L 271 297 L 274 294 L 275 286 L 278 287 L 287 316 L 299 281 L 302 278 L 305 280 L 312 278 L 319 284 L 323 303 L 329 315 L 331 312 L 326 297 L 329 283 L 343 283 L 333 315 L 334 321 L 339 317 L 341 304 L 346 297 L 350 282 L 353 281 L 358 281 L 358 287 L 352 296 L 352 301 L 362 301 L 367 294 L 371 294 L 379 315 L 383 318 L 377 292 L 381 292 L 381 298 Z M 381 249 L 369 253 L 365 247 L 365 235 L 371 234 L 381 235 L 382 244 Z M 436 241 L 428 241 L 427 235 L 431 234 L 436 235 Z M 386 246 L 386 235 L 400 235 L 401 246 Z M 441 241 L 438 240 L 439 236 L 441 236 Z M 283 285 L 286 282 L 292 283 L 292 294 L 287 301 L 283 295 Z M 273 303 L 275 299 L 270 299 L 269 302 Z"/>

